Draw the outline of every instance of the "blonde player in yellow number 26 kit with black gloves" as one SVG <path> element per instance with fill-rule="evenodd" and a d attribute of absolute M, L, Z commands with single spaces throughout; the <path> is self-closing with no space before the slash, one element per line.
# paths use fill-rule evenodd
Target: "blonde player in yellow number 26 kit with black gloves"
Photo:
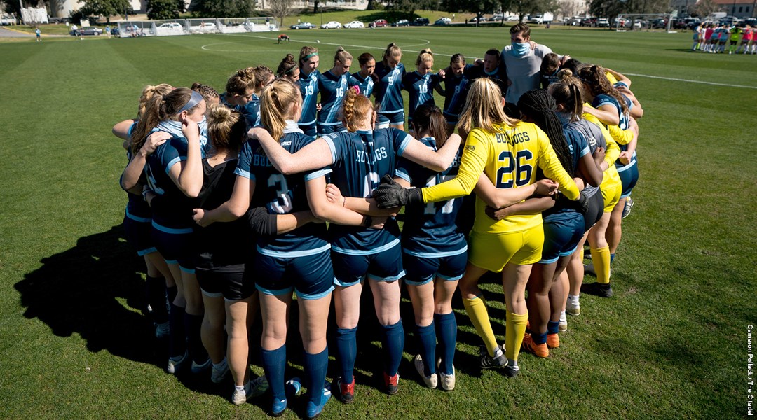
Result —
<path fill-rule="evenodd" d="M 404 189 L 396 184 L 382 184 L 374 193 L 378 204 L 382 208 L 395 207 L 466 196 L 478 183 L 481 173 L 497 191 L 514 189 L 515 193 L 525 193 L 520 198 L 525 199 L 536 190 L 536 167 L 544 171 L 547 178 L 556 180 L 569 199 L 579 199 L 575 182 L 562 168 L 544 131 L 534 124 L 510 119 L 503 112 L 503 102 L 500 89 L 491 80 L 472 82 L 459 122 L 469 134 L 457 176 L 425 188 Z M 481 368 L 503 367 L 506 375 L 514 377 L 519 372 L 518 354 L 528 321 L 525 286 L 531 264 L 541 258 L 544 230 L 539 213 L 494 221 L 485 214 L 486 204 L 478 196 L 468 265 L 459 287 L 466 311 L 486 347 L 481 349 Z M 504 206 L 493 204 L 495 208 Z M 507 305 L 505 354 L 494 337 L 486 304 L 478 289 L 478 279 L 487 271 L 503 273 Z"/>

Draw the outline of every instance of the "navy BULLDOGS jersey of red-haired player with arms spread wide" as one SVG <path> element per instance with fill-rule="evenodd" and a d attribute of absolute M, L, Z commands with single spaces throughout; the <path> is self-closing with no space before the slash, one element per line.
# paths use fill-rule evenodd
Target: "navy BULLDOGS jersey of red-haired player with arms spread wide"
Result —
<path fill-rule="evenodd" d="M 397 156 L 402 156 L 413 137 L 396 128 L 350 133 L 338 131 L 323 137 L 332 153 L 331 182 L 345 197 L 369 197 L 384 175 L 393 175 Z M 394 218 L 384 229 L 329 225 L 332 249 L 347 255 L 371 255 L 400 242 Z"/>

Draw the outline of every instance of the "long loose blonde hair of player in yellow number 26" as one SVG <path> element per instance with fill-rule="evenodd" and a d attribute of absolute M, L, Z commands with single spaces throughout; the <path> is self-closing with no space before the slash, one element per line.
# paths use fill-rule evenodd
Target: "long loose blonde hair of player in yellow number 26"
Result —
<path fill-rule="evenodd" d="M 457 126 L 463 131 L 481 128 L 485 131 L 500 131 L 495 124 L 516 125 L 518 119 L 506 116 L 502 109 L 502 91 L 491 79 L 476 79 L 471 84 L 468 100 L 460 113 Z"/>

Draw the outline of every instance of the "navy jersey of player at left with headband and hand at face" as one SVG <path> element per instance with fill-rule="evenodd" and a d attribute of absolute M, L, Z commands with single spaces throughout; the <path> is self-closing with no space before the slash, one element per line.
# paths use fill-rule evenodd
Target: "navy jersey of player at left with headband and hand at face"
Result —
<path fill-rule="evenodd" d="M 202 154 L 204 158 L 204 152 Z M 192 208 L 196 207 L 197 199 L 182 193 L 168 175 L 173 165 L 179 165 L 179 162 L 186 159 L 186 139 L 171 137 L 157 147 L 145 165 L 148 187 L 157 195 L 164 196 L 164 202 L 170 203 L 166 208 L 154 208 L 152 215 L 153 226 L 167 233 L 192 233 L 195 225 Z"/>

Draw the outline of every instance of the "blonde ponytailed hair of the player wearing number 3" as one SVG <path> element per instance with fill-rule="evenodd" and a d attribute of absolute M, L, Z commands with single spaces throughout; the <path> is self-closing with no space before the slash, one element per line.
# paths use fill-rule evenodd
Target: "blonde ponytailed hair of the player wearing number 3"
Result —
<path fill-rule="evenodd" d="M 302 103 L 300 88 L 286 79 L 276 79 L 260 94 L 260 122 L 280 139 L 286 120 L 294 118 L 294 106 Z"/>

